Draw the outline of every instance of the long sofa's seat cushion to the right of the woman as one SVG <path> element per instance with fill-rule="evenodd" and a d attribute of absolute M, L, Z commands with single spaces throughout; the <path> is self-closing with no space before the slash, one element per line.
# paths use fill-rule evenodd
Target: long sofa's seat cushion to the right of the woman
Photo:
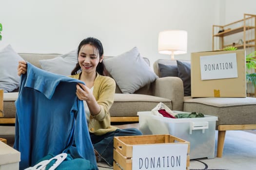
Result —
<path fill-rule="evenodd" d="M 114 103 L 110 108 L 110 115 L 111 117 L 137 116 L 137 112 L 151 111 L 159 102 L 172 109 L 170 99 L 143 94 L 116 93 Z"/>

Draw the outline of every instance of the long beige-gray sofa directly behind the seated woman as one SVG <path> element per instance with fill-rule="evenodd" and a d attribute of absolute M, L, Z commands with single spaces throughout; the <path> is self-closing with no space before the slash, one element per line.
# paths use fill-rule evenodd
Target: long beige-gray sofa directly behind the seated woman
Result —
<path fill-rule="evenodd" d="M 59 54 L 33 54 L 33 53 L 20 53 L 20 56 L 31 64 L 41 68 L 39 60 L 51 59 L 59 56 Z M 107 59 L 108 57 L 105 57 Z M 149 60 L 144 58 L 149 64 Z M 14 68 L 16 69 L 16 68 Z M 176 81 L 173 81 L 176 79 Z M 138 111 L 148 111 L 153 109 L 159 102 L 163 102 L 168 107 L 174 110 L 180 110 L 183 107 L 182 101 L 183 88 L 177 86 L 180 84 L 178 78 L 157 78 L 151 84 L 145 85 L 138 89 L 134 94 L 122 94 L 120 89 L 116 88 L 116 94 L 114 97 L 114 104 L 110 109 L 112 122 L 138 122 Z M 170 88 L 171 86 L 178 87 L 177 89 Z M 180 90 L 180 92 L 177 92 Z M 172 102 L 172 99 L 176 99 Z M 4 93 L 3 95 L 3 112 L 4 117 L 0 118 L 0 124 L 15 123 L 15 101 L 18 97 L 18 91 Z"/>

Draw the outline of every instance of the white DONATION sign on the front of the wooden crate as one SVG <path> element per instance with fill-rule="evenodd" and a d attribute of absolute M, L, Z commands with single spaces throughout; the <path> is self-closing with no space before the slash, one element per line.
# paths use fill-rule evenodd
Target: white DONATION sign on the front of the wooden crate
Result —
<path fill-rule="evenodd" d="M 187 144 L 133 146 L 133 170 L 186 170 Z"/>

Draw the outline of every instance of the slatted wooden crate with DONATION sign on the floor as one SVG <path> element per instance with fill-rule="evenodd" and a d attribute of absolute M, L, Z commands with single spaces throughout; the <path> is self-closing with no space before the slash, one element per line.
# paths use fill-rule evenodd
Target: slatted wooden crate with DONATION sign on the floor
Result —
<path fill-rule="evenodd" d="M 189 150 L 171 135 L 115 136 L 113 170 L 187 170 Z"/>

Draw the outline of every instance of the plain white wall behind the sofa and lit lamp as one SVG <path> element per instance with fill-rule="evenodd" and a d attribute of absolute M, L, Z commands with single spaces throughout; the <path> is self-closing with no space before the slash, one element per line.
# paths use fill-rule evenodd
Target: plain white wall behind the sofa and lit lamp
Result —
<path fill-rule="evenodd" d="M 106 56 L 137 46 L 152 65 L 159 58 L 170 58 L 158 53 L 158 33 L 182 29 L 188 31 L 188 53 L 175 57 L 190 59 L 191 52 L 212 50 L 213 24 L 241 18 L 248 6 L 253 10 L 253 5 L 233 1 L 0 0 L 0 47 L 11 44 L 17 52 L 65 53 L 76 49 L 83 38 L 94 36 L 101 40 Z M 235 10 L 238 16 L 231 17 L 229 3 L 241 14 Z"/>

